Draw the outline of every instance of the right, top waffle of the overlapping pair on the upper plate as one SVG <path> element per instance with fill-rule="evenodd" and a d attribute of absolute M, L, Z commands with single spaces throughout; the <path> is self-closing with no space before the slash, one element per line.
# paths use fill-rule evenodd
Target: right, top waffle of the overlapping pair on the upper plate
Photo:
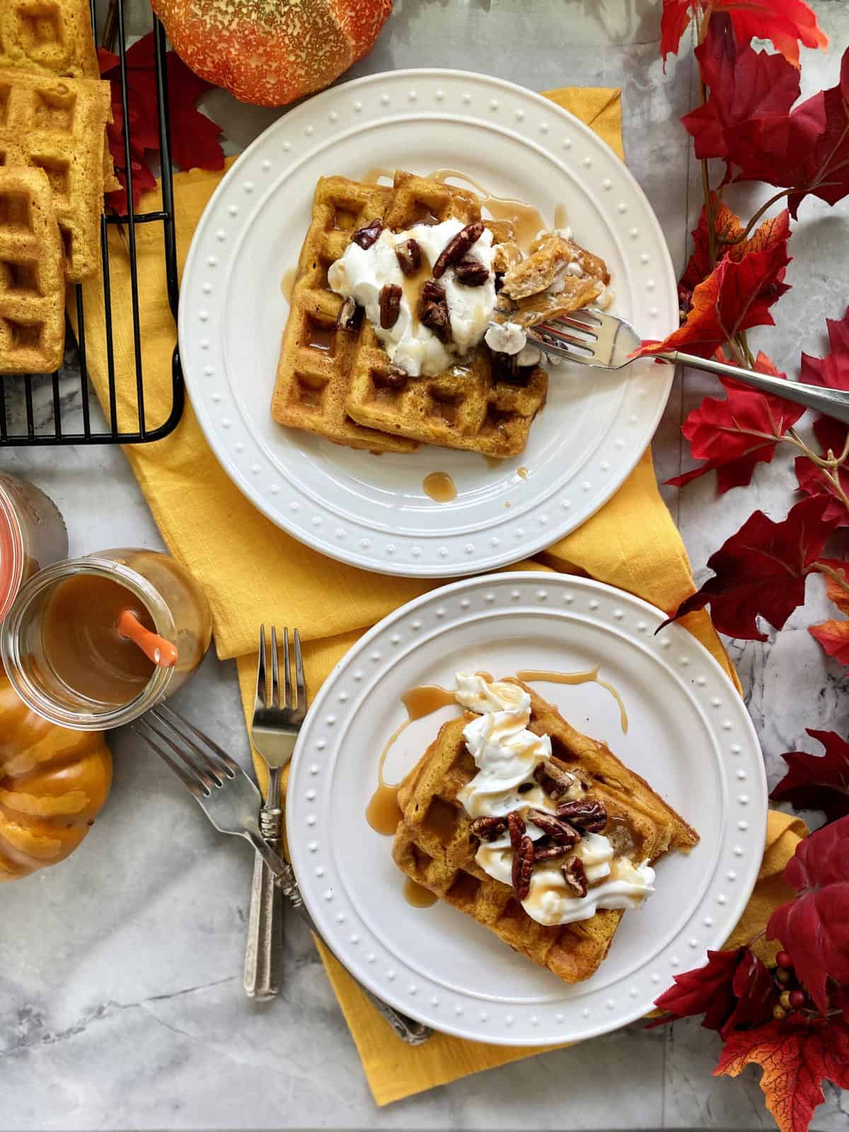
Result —
<path fill-rule="evenodd" d="M 386 228 L 397 232 L 451 217 L 463 224 L 480 220 L 479 198 L 430 178 L 395 173 Z M 496 242 L 508 239 L 505 225 L 488 226 Z M 531 422 L 546 403 L 544 369 L 524 367 L 501 376 L 484 346 L 471 350 L 437 377 L 410 377 L 401 389 L 381 383 L 387 363 L 380 340 L 365 320 L 345 406 L 360 424 L 398 437 L 487 456 L 514 456 L 524 448 Z"/>

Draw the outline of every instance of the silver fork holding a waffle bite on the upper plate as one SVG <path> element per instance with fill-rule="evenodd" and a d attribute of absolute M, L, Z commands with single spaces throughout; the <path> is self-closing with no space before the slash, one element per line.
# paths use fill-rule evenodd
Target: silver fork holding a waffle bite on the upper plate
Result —
<path fill-rule="evenodd" d="M 599 369 L 621 369 L 632 361 L 633 352 L 640 346 L 641 337 L 631 323 L 615 315 L 608 315 L 594 307 L 576 310 L 571 315 L 561 315 L 550 323 L 540 323 L 528 331 L 528 341 L 539 346 L 543 353 L 581 366 L 594 366 Z M 767 374 L 757 374 L 752 369 L 727 366 L 711 358 L 697 358 L 695 354 L 674 351 L 671 353 L 652 354 L 672 366 L 689 366 L 691 369 L 703 369 L 709 374 L 720 374 L 732 377 L 735 381 L 751 385 L 762 393 L 772 393 L 792 401 L 806 409 L 816 409 L 826 417 L 849 423 L 849 393 L 840 389 L 822 389 L 800 381 L 787 381 Z"/>

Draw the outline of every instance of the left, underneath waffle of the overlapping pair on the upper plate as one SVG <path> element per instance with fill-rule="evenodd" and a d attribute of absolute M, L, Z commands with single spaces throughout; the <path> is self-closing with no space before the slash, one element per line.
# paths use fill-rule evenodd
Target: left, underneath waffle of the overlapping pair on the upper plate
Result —
<path fill-rule="evenodd" d="M 371 452 L 412 452 L 415 444 L 411 440 L 365 428 L 348 415 L 345 398 L 363 331 L 336 327 L 342 299 L 327 283 L 327 268 L 344 252 L 351 233 L 383 217 L 389 196 L 391 190 L 379 185 L 361 185 L 344 177 L 319 180 L 283 334 L 272 417 L 334 444 Z"/>

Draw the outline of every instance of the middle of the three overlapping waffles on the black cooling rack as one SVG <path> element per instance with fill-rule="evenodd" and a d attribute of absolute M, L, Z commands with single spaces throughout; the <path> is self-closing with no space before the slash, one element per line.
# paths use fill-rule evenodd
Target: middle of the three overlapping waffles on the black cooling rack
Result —
<path fill-rule="evenodd" d="M 6 165 L 41 168 L 53 192 L 67 276 L 96 274 L 103 211 L 103 138 L 109 83 L 0 71 L 0 155 Z"/>

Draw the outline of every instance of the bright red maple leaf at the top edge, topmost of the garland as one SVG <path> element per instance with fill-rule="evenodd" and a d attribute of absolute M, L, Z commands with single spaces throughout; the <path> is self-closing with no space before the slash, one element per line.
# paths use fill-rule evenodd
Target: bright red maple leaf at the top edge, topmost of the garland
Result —
<path fill-rule="evenodd" d="M 660 53 L 663 62 L 675 54 L 697 8 L 731 12 L 740 40 L 772 40 L 775 49 L 794 66 L 799 66 L 799 43 L 822 48 L 829 38 L 816 16 L 803 0 L 663 0 L 660 23 Z M 737 9 L 737 10 L 735 10 Z"/>

